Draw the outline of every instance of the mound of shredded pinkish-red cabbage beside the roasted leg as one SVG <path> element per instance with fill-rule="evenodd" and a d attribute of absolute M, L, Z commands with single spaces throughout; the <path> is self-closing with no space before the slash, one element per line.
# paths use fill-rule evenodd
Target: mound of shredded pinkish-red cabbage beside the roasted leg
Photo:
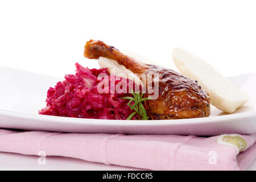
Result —
<path fill-rule="evenodd" d="M 93 119 L 126 119 L 133 110 L 127 106 L 131 89 L 141 90 L 133 81 L 109 75 L 108 68 L 89 69 L 76 63 L 76 75 L 65 75 L 47 92 L 47 106 L 39 114 Z M 129 92 L 127 93 L 126 92 Z M 133 103 L 133 102 L 132 102 Z M 135 114 L 132 119 L 138 119 Z"/>

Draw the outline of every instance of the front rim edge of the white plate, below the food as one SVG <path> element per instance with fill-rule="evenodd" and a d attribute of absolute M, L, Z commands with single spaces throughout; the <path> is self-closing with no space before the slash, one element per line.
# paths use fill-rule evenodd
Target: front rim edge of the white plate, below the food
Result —
<path fill-rule="evenodd" d="M 72 118 L 72 117 L 59 117 L 54 115 L 42 115 L 42 114 L 30 114 L 21 113 L 17 111 L 3 110 L 0 109 L 0 115 L 8 115 L 10 117 L 24 118 L 40 120 L 44 122 L 54 122 L 54 123 L 73 123 L 73 124 L 89 124 L 89 125 L 114 125 L 114 126 L 124 126 L 124 125 L 198 125 L 198 124 L 209 124 L 218 123 L 223 121 L 232 122 L 234 119 L 244 119 L 247 117 L 255 117 L 256 111 L 247 111 L 245 113 L 235 113 L 229 115 L 220 115 L 213 117 L 204 118 L 189 118 L 189 119 L 166 119 L 166 120 L 119 120 L 119 119 L 90 119 L 90 118 Z M 217 119 L 216 119 L 217 118 Z M 62 121 L 60 121 L 60 119 Z M 71 121 L 72 120 L 72 121 Z M 87 121 L 86 121 L 87 120 Z M 256 120 L 255 120 L 256 122 Z"/>

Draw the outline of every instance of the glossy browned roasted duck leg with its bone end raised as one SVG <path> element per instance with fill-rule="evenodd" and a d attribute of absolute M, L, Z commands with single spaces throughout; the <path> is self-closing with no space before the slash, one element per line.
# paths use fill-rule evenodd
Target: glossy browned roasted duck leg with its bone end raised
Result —
<path fill-rule="evenodd" d="M 138 75 L 159 75 L 159 79 L 155 79 L 159 86 L 159 96 L 155 100 L 145 101 L 147 114 L 151 119 L 185 119 L 210 115 L 209 94 L 191 78 L 171 69 L 141 63 L 100 40 L 89 40 L 85 44 L 84 56 L 89 59 L 113 59 Z M 153 88 L 155 83 L 152 83 Z M 146 82 L 143 82 L 143 85 L 146 85 Z M 151 95 L 145 94 L 146 97 Z"/>

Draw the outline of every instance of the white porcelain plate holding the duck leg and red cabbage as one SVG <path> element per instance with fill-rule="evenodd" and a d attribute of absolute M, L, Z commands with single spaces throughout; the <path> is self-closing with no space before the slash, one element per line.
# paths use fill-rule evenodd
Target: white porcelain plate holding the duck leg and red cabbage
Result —
<path fill-rule="evenodd" d="M 251 97 L 236 113 L 211 106 L 208 118 L 162 121 L 118 121 L 39 115 L 49 86 L 63 78 L 0 67 L 0 127 L 72 133 L 217 135 L 256 132 L 256 73 L 229 78 Z"/>

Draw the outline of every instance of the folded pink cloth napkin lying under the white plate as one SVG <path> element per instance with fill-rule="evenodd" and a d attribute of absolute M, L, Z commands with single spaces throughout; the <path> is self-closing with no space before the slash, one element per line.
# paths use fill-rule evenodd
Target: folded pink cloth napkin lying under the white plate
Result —
<path fill-rule="evenodd" d="M 242 140 L 234 142 L 232 135 L 227 140 L 224 136 L 203 138 L 0 129 L 0 151 L 25 155 L 39 155 L 44 151 L 47 156 L 152 170 L 245 170 L 256 156 L 256 134 L 239 136 Z M 239 152 L 241 149 L 243 151 Z"/>

